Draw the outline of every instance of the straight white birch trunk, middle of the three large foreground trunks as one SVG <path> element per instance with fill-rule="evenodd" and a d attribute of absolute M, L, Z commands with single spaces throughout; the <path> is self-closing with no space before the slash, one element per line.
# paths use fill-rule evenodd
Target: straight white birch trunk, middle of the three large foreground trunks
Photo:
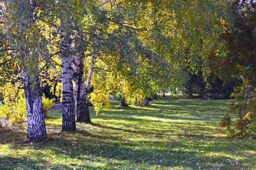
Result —
<path fill-rule="evenodd" d="M 62 32 L 63 34 L 63 32 Z M 70 36 L 62 36 L 61 74 L 62 74 L 62 131 L 76 130 L 75 102 L 73 96 L 73 75 Z"/>

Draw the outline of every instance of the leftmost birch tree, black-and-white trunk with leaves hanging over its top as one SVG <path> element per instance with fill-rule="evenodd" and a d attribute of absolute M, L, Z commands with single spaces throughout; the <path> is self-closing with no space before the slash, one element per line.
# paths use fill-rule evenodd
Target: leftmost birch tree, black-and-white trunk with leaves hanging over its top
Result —
<path fill-rule="evenodd" d="M 47 139 L 44 122 L 40 82 L 38 77 L 39 55 L 44 41 L 40 32 L 40 8 L 31 1 L 3 1 L 0 16 L 5 30 L 6 44 L 12 51 L 23 74 L 27 111 L 27 140 Z"/>

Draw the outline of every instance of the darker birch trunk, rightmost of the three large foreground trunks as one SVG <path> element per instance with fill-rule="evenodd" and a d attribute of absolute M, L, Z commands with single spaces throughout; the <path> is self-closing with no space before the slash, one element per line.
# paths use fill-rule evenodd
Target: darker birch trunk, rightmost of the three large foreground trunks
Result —
<path fill-rule="evenodd" d="M 76 102 L 76 122 L 90 123 L 88 90 L 84 83 L 84 53 L 73 57 L 74 96 Z"/>

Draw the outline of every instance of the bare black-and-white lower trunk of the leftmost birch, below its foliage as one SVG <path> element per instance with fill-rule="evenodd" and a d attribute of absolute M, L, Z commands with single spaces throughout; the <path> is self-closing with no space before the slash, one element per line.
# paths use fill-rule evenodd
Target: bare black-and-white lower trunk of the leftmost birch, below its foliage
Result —
<path fill-rule="evenodd" d="M 22 73 L 27 112 L 27 140 L 47 139 L 39 78 L 35 76 L 32 83 L 24 68 Z"/>

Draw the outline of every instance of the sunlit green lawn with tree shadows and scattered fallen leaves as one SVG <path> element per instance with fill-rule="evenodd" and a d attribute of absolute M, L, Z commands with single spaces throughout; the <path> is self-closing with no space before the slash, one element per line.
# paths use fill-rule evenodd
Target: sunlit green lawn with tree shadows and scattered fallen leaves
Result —
<path fill-rule="evenodd" d="M 256 140 L 218 132 L 229 100 L 175 97 L 150 104 L 98 116 L 90 108 L 93 123 L 77 123 L 70 133 L 61 133 L 58 111 L 46 119 L 49 139 L 43 142 L 23 144 L 25 125 L 0 128 L 0 169 L 256 169 Z"/>

